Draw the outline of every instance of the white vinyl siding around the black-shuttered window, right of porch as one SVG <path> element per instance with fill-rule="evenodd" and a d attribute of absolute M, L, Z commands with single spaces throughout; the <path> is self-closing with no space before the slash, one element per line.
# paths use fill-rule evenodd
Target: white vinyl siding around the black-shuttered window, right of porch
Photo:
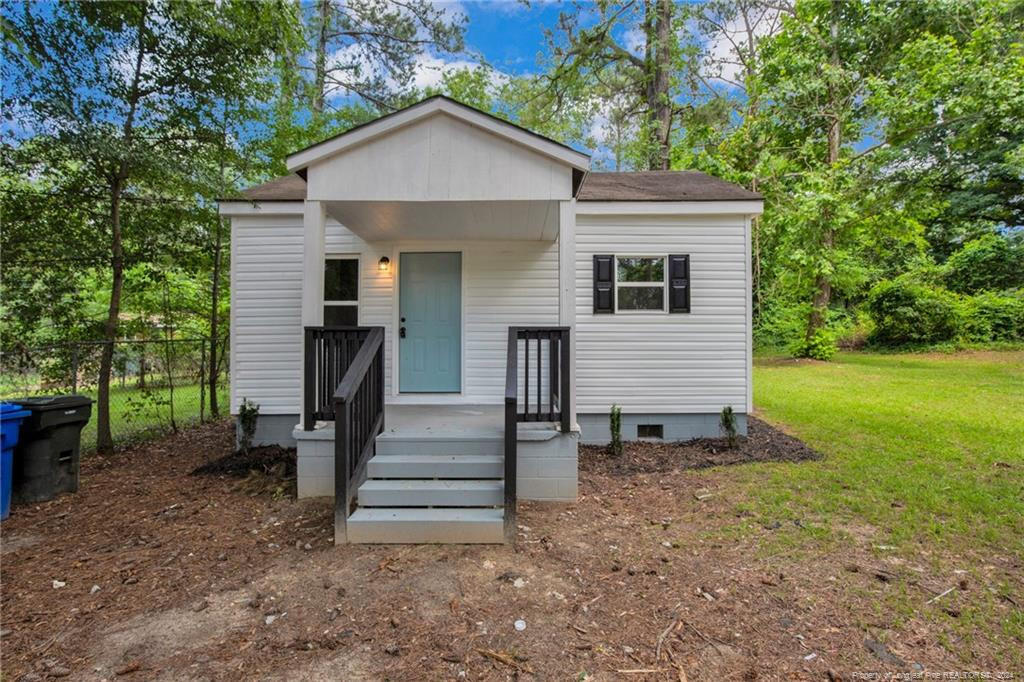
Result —
<path fill-rule="evenodd" d="M 577 411 L 748 408 L 743 215 L 577 214 Z M 593 258 L 689 254 L 690 312 L 593 312 Z"/>

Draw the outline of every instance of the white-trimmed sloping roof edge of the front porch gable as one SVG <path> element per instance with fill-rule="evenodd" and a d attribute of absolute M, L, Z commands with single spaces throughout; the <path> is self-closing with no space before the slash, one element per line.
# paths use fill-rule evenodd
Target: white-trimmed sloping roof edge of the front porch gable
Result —
<path fill-rule="evenodd" d="M 427 97 L 415 104 L 355 126 L 343 133 L 328 137 L 303 150 L 294 152 L 288 157 L 288 170 L 303 174 L 305 168 L 327 157 L 439 114 L 446 114 L 468 125 L 485 130 L 520 146 L 559 161 L 571 168 L 582 171 L 590 170 L 590 155 L 577 152 L 572 147 L 555 141 L 550 137 L 545 137 L 532 130 L 509 123 L 497 116 L 473 109 L 444 95 Z"/>

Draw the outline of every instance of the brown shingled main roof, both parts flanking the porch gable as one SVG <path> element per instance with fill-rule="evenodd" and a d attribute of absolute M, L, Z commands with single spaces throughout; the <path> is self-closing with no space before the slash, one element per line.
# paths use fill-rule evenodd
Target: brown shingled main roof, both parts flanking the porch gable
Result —
<path fill-rule="evenodd" d="M 255 202 L 301 202 L 306 181 L 286 175 L 242 193 Z M 699 171 L 588 173 L 581 202 L 723 202 L 761 201 L 761 195 Z"/>

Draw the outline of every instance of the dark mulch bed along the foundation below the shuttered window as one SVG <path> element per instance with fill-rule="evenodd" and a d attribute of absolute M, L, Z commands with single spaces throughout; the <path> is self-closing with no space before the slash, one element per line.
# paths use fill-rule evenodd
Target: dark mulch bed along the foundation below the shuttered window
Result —
<path fill-rule="evenodd" d="M 632 440 L 624 444 L 622 458 L 612 457 L 603 445 L 581 445 L 581 467 L 607 473 L 653 473 L 744 462 L 802 462 L 822 457 L 799 438 L 750 416 L 746 435 L 738 438 L 735 446 L 730 446 L 727 438 L 694 438 L 680 442 Z"/>

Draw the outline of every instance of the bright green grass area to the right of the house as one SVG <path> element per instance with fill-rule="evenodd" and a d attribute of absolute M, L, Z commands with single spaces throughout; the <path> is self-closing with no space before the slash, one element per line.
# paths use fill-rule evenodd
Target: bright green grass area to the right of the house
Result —
<path fill-rule="evenodd" d="M 742 468 L 748 505 L 876 543 L 1024 552 L 1024 352 L 762 358 L 755 406 L 825 455 Z M 811 534 L 813 535 L 813 534 Z"/>

